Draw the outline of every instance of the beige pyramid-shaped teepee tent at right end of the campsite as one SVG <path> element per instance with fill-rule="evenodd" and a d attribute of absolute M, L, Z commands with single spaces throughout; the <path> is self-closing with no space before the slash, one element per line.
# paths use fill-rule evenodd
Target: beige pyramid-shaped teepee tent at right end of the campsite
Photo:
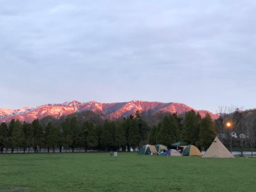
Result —
<path fill-rule="evenodd" d="M 212 145 L 202 157 L 208 158 L 235 158 L 228 149 L 221 143 L 218 137 L 214 139 Z"/>

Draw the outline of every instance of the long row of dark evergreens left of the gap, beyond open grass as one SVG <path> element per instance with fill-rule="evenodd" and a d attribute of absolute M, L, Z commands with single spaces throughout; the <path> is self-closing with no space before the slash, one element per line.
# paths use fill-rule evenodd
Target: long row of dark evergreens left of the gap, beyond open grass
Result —
<path fill-rule="evenodd" d="M 55 147 L 90 148 L 98 150 L 110 150 L 125 148 L 128 146 L 136 148 L 141 142 L 148 138 L 150 127 L 141 118 L 141 114 L 136 112 L 135 117 L 130 115 L 121 121 L 105 120 L 103 124 L 93 124 L 89 120 L 78 123 L 77 116 L 65 118 L 60 124 L 48 122 L 45 127 L 35 119 L 32 123 L 12 119 L 9 126 L 6 123 L 0 125 L 0 152 L 4 148 L 23 148 L 24 152 L 31 147 L 34 151 L 42 148 Z"/>

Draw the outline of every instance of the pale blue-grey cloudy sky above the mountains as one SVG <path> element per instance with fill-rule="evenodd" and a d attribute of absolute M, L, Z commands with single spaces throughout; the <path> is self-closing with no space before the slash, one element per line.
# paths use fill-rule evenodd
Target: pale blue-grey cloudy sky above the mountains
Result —
<path fill-rule="evenodd" d="M 0 108 L 256 108 L 255 9 L 254 0 L 2 0 Z"/>

